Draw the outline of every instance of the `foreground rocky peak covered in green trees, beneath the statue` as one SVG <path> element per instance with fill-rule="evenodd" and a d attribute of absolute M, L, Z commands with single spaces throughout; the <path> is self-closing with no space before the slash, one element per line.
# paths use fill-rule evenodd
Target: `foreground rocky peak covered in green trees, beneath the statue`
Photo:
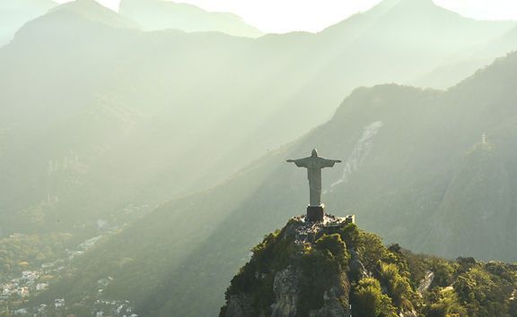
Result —
<path fill-rule="evenodd" d="M 220 317 L 514 316 L 517 268 L 416 255 L 355 225 L 306 216 L 267 235 L 232 278 Z M 501 314 L 504 312 L 504 314 Z M 494 314 L 495 313 L 495 314 Z"/>

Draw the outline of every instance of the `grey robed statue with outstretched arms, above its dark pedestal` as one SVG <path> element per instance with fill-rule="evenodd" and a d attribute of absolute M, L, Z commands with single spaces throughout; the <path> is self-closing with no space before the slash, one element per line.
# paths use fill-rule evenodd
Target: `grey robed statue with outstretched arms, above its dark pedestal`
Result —
<path fill-rule="evenodd" d="M 321 168 L 334 167 L 334 164 L 341 163 L 338 159 L 323 159 L 318 156 L 316 149 L 312 150 L 311 156 L 304 159 L 287 159 L 287 162 L 296 164 L 297 167 L 307 168 L 307 178 L 310 188 L 310 206 L 321 206 Z"/>

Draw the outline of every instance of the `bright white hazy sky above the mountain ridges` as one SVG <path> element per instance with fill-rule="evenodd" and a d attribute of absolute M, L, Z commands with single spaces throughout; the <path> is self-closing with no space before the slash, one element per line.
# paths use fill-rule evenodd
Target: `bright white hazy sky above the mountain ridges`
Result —
<path fill-rule="evenodd" d="M 66 2 L 68 0 L 57 0 Z M 98 0 L 117 9 L 119 0 Z M 318 31 L 364 11 L 380 0 L 177 0 L 209 11 L 231 12 L 267 32 Z M 434 0 L 462 15 L 484 19 L 517 19 L 517 0 Z"/>

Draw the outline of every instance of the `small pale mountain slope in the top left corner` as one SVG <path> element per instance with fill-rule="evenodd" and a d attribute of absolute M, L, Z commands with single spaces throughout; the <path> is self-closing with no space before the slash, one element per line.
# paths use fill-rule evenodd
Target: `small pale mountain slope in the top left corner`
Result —
<path fill-rule="evenodd" d="M 51 0 L 4 0 L 0 4 L 0 46 L 14 37 L 22 25 L 45 14 L 57 4 Z"/>

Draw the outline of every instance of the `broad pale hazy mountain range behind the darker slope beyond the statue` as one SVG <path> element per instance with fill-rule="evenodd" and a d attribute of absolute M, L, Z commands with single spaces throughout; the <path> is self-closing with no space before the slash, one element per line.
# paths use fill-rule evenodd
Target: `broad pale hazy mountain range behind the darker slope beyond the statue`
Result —
<path fill-rule="evenodd" d="M 512 27 L 390 0 L 319 34 L 245 39 L 60 5 L 0 51 L 3 229 L 67 230 L 215 185 L 355 87 L 416 78 Z"/>

